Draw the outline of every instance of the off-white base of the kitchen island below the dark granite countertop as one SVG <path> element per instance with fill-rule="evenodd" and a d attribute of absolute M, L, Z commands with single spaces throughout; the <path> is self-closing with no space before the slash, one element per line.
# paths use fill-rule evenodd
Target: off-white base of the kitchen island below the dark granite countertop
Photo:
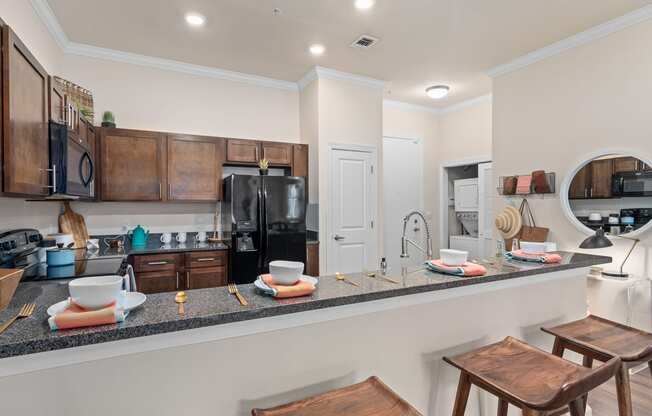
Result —
<path fill-rule="evenodd" d="M 424 415 L 448 415 L 459 372 L 441 357 L 507 335 L 550 351 L 539 327 L 586 315 L 585 276 L 562 270 L 5 358 L 0 403 L 30 416 L 244 416 L 376 375 Z M 466 414 L 495 409 L 473 390 Z"/>

